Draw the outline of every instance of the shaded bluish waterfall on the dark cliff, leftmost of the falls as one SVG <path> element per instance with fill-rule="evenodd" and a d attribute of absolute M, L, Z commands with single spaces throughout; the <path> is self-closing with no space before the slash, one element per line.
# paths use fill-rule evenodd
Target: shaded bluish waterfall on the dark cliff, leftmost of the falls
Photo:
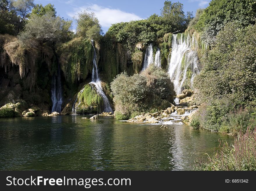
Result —
<path fill-rule="evenodd" d="M 51 112 L 61 113 L 61 104 L 62 104 L 62 88 L 61 88 L 61 69 L 58 65 L 57 76 L 52 77 L 52 88 L 51 88 L 51 101 L 52 108 Z"/>

